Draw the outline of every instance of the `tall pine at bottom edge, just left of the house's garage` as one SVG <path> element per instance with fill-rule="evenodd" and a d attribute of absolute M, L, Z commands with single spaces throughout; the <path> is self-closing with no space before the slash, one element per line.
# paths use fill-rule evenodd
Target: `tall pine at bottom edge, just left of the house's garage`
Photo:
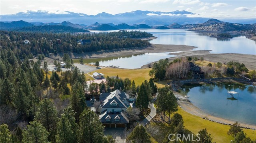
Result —
<path fill-rule="evenodd" d="M 102 143 L 104 139 L 104 127 L 98 115 L 89 109 L 85 109 L 80 115 L 78 127 L 79 143 Z"/>

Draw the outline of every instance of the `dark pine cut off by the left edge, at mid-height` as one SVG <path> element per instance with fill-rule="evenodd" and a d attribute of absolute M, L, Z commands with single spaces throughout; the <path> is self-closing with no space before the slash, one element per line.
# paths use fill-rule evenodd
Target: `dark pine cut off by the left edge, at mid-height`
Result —
<path fill-rule="evenodd" d="M 14 88 L 12 82 L 8 79 L 4 79 L 1 85 L 1 104 L 11 103 L 13 98 Z"/>

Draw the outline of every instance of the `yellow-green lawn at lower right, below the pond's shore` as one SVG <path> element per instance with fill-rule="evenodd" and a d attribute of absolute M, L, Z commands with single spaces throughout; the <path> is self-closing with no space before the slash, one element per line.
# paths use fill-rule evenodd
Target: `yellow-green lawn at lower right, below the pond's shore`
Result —
<path fill-rule="evenodd" d="M 198 116 L 194 116 L 185 112 L 181 108 L 179 108 L 178 113 L 182 115 L 184 119 L 184 126 L 186 129 L 196 134 L 200 129 L 206 128 L 208 133 L 211 134 L 212 140 L 216 143 L 230 143 L 234 138 L 232 136 L 228 136 L 227 131 L 230 129 L 230 125 L 223 125 L 220 123 L 216 123 L 213 121 L 208 121 L 206 119 L 202 119 Z M 168 116 L 168 115 L 167 115 Z M 154 122 L 152 122 L 154 123 Z M 162 129 L 163 135 L 166 135 L 170 129 L 170 126 L 167 123 L 156 123 Z M 256 139 L 256 131 L 252 129 L 243 129 L 246 133 L 247 137 L 251 139 Z"/>

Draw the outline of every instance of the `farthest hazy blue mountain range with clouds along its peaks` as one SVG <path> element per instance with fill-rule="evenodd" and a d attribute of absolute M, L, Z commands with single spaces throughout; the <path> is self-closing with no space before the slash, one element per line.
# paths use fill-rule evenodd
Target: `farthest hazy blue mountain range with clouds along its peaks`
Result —
<path fill-rule="evenodd" d="M 177 23 L 180 25 L 184 24 L 201 24 L 210 18 L 202 18 L 199 14 L 195 14 L 187 11 L 173 11 L 173 12 L 152 12 L 136 10 L 132 12 L 125 12 L 122 14 L 108 14 L 106 12 L 99 13 L 97 15 L 87 15 L 83 13 L 75 12 L 62 12 L 62 11 L 26 11 L 19 12 L 17 14 L 0 15 L 1 22 L 11 22 L 24 20 L 26 22 L 33 22 L 34 25 L 42 25 L 44 23 L 53 22 L 53 24 L 61 23 L 63 21 L 72 22 L 75 24 L 91 25 L 95 22 L 101 24 L 108 24 L 114 27 L 118 24 L 146 24 L 150 26 L 170 25 Z M 233 23 L 256 23 L 256 19 L 223 19 L 226 22 Z M 138 27 L 137 27 L 138 28 Z"/>

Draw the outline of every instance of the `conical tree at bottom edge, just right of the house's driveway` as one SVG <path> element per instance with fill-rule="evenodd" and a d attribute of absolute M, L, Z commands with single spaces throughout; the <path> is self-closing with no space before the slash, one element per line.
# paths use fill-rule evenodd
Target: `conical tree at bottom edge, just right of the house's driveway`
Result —
<path fill-rule="evenodd" d="M 137 125 L 130 135 L 128 135 L 126 141 L 132 141 L 132 143 L 151 143 L 150 135 L 142 125 Z"/>

